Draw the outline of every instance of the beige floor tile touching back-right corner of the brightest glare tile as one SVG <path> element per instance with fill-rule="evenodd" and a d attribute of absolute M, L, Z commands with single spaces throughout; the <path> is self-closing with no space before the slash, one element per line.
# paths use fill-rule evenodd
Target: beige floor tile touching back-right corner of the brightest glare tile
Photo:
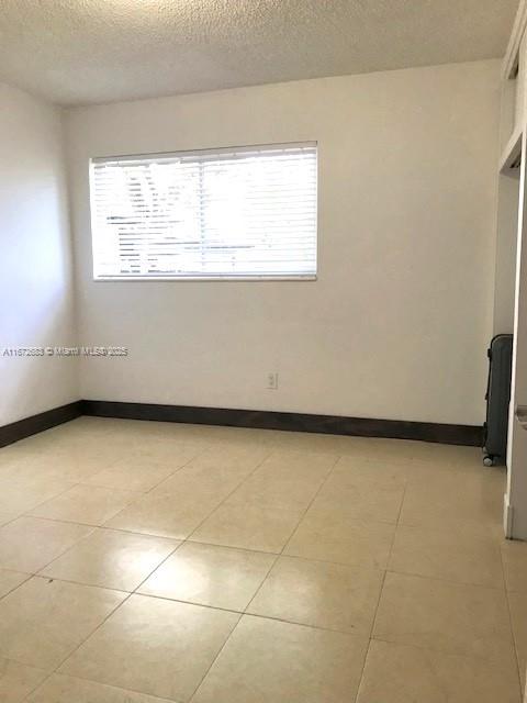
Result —
<path fill-rule="evenodd" d="M 349 566 L 385 569 L 394 525 L 358 521 L 340 511 L 310 509 L 284 554 L 337 561 Z"/>

